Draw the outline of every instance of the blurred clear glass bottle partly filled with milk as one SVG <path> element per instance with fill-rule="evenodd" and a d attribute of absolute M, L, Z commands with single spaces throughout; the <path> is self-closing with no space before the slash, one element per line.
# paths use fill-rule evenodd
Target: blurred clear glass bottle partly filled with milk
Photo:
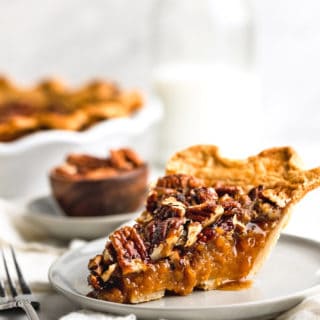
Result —
<path fill-rule="evenodd" d="M 153 87 L 164 105 L 159 162 L 192 144 L 241 151 L 257 137 L 259 82 L 246 0 L 161 0 Z"/>

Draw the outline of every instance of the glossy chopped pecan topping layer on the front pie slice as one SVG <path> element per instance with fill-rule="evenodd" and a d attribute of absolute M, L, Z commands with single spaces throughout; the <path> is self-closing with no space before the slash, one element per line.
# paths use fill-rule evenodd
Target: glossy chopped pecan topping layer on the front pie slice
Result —
<path fill-rule="evenodd" d="M 245 193 L 221 183 L 204 187 L 186 175 L 161 178 L 137 224 L 115 231 L 103 254 L 90 261 L 89 281 L 94 288 L 113 288 L 119 273 L 143 272 L 159 260 L 173 270 L 185 268 L 188 255 L 209 241 L 237 254 L 238 241 L 263 234 L 264 223 L 276 221 L 281 199 L 260 186 Z"/>

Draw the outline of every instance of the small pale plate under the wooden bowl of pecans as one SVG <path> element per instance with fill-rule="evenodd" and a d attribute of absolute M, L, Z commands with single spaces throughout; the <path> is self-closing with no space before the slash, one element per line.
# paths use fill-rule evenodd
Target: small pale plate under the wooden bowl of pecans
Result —
<path fill-rule="evenodd" d="M 106 236 L 136 215 L 136 213 L 126 213 L 101 217 L 68 217 L 51 196 L 34 199 L 27 208 L 28 213 L 25 218 L 28 221 L 52 237 L 62 240 L 74 238 L 92 240 Z"/>

